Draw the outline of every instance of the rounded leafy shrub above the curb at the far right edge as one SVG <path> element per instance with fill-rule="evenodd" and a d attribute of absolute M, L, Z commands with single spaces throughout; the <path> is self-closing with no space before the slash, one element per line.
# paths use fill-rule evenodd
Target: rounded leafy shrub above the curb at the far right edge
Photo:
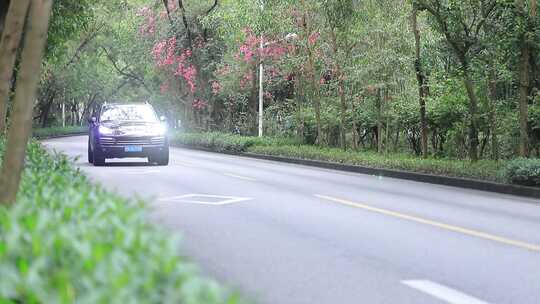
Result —
<path fill-rule="evenodd" d="M 511 160 L 506 164 L 503 176 L 511 184 L 540 187 L 540 159 Z"/>

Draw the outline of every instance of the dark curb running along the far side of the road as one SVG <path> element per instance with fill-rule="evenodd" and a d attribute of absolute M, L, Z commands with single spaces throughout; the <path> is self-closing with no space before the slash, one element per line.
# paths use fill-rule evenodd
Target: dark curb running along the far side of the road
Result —
<path fill-rule="evenodd" d="M 318 167 L 318 168 L 324 168 L 324 169 L 333 169 L 333 170 L 360 173 L 360 174 L 392 177 L 392 178 L 405 179 L 405 180 L 411 180 L 411 181 L 417 181 L 417 182 L 423 182 L 423 183 L 429 183 L 429 184 L 435 184 L 435 185 L 443 185 L 443 186 L 472 189 L 472 190 L 481 190 L 481 191 L 494 192 L 494 193 L 500 193 L 500 194 L 510 194 L 510 195 L 540 199 L 540 188 L 534 188 L 534 187 L 501 184 L 501 183 L 481 181 L 481 180 L 476 180 L 476 179 L 448 177 L 448 176 L 432 175 L 432 174 L 426 174 L 426 173 L 417 173 L 417 172 L 409 172 L 409 171 L 401 171 L 401 170 L 379 169 L 379 168 L 363 167 L 363 166 L 356 166 L 356 165 L 346 165 L 346 164 L 325 162 L 325 161 L 319 161 L 319 160 L 308 160 L 308 159 L 301 159 L 301 158 L 264 155 L 264 154 L 256 154 L 256 153 L 249 153 L 249 152 L 216 151 L 209 148 L 193 147 L 193 146 L 188 146 L 188 145 L 171 145 L 171 146 L 191 149 L 191 150 L 222 153 L 222 154 L 243 156 L 243 157 L 263 159 L 263 160 L 279 161 L 279 162 L 284 162 L 284 163 L 305 165 L 305 166 Z"/>

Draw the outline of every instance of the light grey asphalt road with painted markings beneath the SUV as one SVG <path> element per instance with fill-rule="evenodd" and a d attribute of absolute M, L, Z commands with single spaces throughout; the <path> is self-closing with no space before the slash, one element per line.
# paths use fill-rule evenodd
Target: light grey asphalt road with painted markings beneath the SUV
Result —
<path fill-rule="evenodd" d="M 540 303 L 538 200 L 176 148 L 93 167 L 86 141 L 45 143 L 258 303 Z"/>

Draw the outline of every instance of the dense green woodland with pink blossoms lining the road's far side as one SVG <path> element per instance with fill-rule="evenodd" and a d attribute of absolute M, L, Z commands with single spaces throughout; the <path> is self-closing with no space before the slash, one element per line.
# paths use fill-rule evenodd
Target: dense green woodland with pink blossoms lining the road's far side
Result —
<path fill-rule="evenodd" d="M 253 135 L 264 63 L 265 134 L 425 157 L 538 156 L 536 2 L 398 2 L 79 2 L 75 16 L 53 15 L 78 35 L 51 32 L 64 48 L 49 48 L 35 123 L 58 124 L 62 104 L 82 124 L 105 101 L 149 100 L 175 126 Z"/>

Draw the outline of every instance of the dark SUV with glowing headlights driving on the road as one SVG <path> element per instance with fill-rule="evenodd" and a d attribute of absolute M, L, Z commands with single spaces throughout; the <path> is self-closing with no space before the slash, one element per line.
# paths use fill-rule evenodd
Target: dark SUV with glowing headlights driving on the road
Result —
<path fill-rule="evenodd" d="M 105 104 L 90 119 L 88 162 L 105 164 L 107 158 L 148 157 L 169 164 L 169 139 L 164 118 L 150 104 Z"/>

